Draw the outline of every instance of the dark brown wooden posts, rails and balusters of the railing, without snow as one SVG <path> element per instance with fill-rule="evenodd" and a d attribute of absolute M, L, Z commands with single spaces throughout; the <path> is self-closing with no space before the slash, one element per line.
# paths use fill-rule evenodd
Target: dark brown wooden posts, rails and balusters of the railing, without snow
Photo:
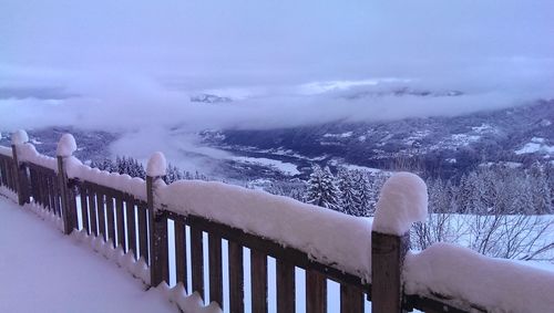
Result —
<path fill-rule="evenodd" d="M 74 139 L 66 137 L 66 140 Z M 155 204 L 160 176 L 148 176 L 146 181 L 140 182 L 144 184 L 145 192 L 138 195 L 91 181 L 94 179 L 90 177 L 100 174 L 70 177 L 71 153 L 61 153 L 57 159 L 43 160 L 41 165 L 33 163 L 33 157 L 18 158 L 24 145 L 30 146 L 16 142 L 11 156 L 6 153 L 8 148 L 2 148 L 3 153 L 0 150 L 1 186 L 17 192 L 20 205 L 32 202 L 60 217 L 66 234 L 80 230 L 132 253 L 135 260 L 143 259 L 150 269 L 152 286 L 168 283 L 173 271 L 175 282 L 182 283 L 189 293 L 197 292 L 202 299 L 209 299 L 220 307 L 227 305 L 230 312 L 244 312 L 245 306 L 252 307 L 252 312 L 268 312 L 268 257 L 271 257 L 276 260 L 277 312 L 296 310 L 296 269 L 304 269 L 306 273 L 306 312 L 327 312 L 328 280 L 340 284 L 340 293 L 332 295 L 340 298 L 340 312 L 363 312 L 365 299 L 371 301 L 372 312 L 488 311 L 440 293 L 404 294 L 402 263 L 409 250 L 409 232 L 403 236 L 371 233 L 372 252 L 368 255 L 371 258 L 371 282 L 368 282 L 340 270 L 340 264 L 315 261 L 305 251 L 203 216 L 177 213 L 167 204 Z M 172 233 L 168 226 L 173 226 Z M 174 247 L 168 247 L 168 238 L 173 238 Z M 206 238 L 207 243 L 204 242 Z M 226 253 L 222 253 L 224 246 L 227 246 Z M 245 251 L 249 251 L 249 268 L 245 268 Z M 204 269 L 205 259 L 207 269 Z M 170 264 L 175 264 L 174 270 Z M 228 272 L 228 299 L 224 299 L 224 265 Z M 207 281 L 204 280 L 206 270 L 209 273 Z M 250 303 L 245 303 L 247 273 Z"/>

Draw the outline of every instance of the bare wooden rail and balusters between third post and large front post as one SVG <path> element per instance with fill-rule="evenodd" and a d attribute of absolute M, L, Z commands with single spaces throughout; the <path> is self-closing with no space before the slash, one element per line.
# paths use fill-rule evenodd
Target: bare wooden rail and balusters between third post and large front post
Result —
<path fill-rule="evenodd" d="M 326 280 L 332 280 L 341 284 L 341 290 L 345 293 L 341 294 L 341 312 L 363 312 L 363 298 L 370 299 L 370 284 L 363 283 L 362 280 L 356 275 L 345 273 L 334 267 L 322 264 L 320 262 L 314 261 L 309 255 L 302 251 L 290 247 L 284 247 L 271 240 L 244 232 L 242 229 L 237 229 L 227 225 L 218 223 L 203 217 L 198 216 L 182 216 L 170 211 L 167 209 L 161 212 L 167 220 L 173 220 L 175 222 L 176 237 L 183 236 L 181 230 L 183 226 L 188 226 L 191 228 L 191 244 L 192 244 L 192 278 L 193 278 L 193 290 L 201 293 L 204 298 L 209 293 L 211 301 L 216 301 L 223 304 L 222 299 L 222 253 L 220 253 L 220 240 L 228 241 L 228 259 L 225 260 L 229 267 L 229 290 L 232 290 L 232 298 L 229 305 L 234 307 L 233 312 L 242 312 L 244 310 L 244 303 L 237 301 L 237 299 L 244 299 L 240 294 L 243 292 L 244 285 L 244 269 L 243 267 L 243 247 L 250 249 L 250 279 L 252 279 L 252 291 L 253 291 L 253 303 L 252 307 L 257 307 L 257 312 L 267 312 L 267 257 L 273 257 L 278 261 L 278 277 L 277 277 L 277 296 L 278 296 L 278 312 L 294 312 L 295 303 L 295 280 L 294 280 L 294 269 L 299 268 L 306 270 L 307 273 L 307 296 L 312 299 L 314 306 L 309 312 L 319 312 L 320 309 L 326 307 L 325 298 L 327 298 L 326 292 Z M 209 290 L 205 291 L 204 284 L 204 269 L 203 269 L 203 238 L 202 232 L 208 234 L 208 254 L 204 255 L 208 258 L 209 264 Z M 177 242 L 177 241 L 176 241 Z M 184 239 L 179 242 L 185 242 Z M 181 248 L 176 251 L 183 251 Z M 186 260 L 186 254 L 175 253 L 176 264 L 183 263 Z M 283 265 L 286 264 L 286 265 Z M 183 265 L 181 265 L 183 267 Z M 288 269 L 288 270 L 287 270 Z M 182 281 L 186 285 L 186 269 L 183 268 L 181 271 L 185 271 L 184 274 L 177 275 L 177 282 Z M 288 274 L 281 274 L 283 271 L 288 271 Z M 315 278 L 314 285 L 311 284 L 311 277 Z M 293 291 L 293 293 L 290 293 Z M 337 295 L 339 296 L 339 295 Z M 319 302 L 324 301 L 324 302 Z M 308 306 L 310 304 L 308 303 Z M 254 310 L 254 309 L 253 309 Z M 291 311 L 293 310 L 293 311 Z"/>

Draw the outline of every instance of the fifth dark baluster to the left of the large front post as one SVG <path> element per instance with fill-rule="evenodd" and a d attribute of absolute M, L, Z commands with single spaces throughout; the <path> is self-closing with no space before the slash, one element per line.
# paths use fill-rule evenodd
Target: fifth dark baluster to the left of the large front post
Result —
<path fill-rule="evenodd" d="M 244 262 L 243 247 L 228 242 L 229 257 L 229 309 L 230 312 L 244 312 Z"/>

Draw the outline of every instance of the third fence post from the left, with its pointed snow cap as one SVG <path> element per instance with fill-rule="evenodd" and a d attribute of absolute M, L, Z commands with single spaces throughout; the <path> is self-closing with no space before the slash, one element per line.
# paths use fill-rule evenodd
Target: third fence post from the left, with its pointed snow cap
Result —
<path fill-rule="evenodd" d="M 150 284 L 170 282 L 167 218 L 154 205 L 154 188 L 165 176 L 166 163 L 162 153 L 155 153 L 146 166 L 146 200 L 150 225 Z"/>

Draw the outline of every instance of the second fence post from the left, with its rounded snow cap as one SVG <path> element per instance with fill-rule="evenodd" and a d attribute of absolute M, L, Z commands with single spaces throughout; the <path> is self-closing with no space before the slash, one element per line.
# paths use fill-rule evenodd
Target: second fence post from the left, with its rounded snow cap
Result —
<path fill-rule="evenodd" d="M 58 186 L 60 187 L 63 233 L 70 234 L 78 227 L 75 192 L 69 187 L 66 159 L 76 150 L 75 138 L 71 134 L 64 134 L 58 143 Z"/>

